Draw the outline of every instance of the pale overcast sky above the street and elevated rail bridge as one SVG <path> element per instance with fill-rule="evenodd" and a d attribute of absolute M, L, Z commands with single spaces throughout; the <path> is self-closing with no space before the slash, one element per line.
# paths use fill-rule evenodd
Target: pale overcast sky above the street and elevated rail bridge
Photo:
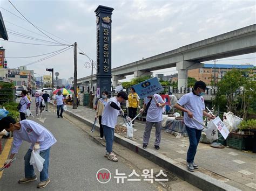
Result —
<path fill-rule="evenodd" d="M 22 1 L 11 0 L 16 8 L 36 26 L 73 44 L 75 41 L 93 60 L 96 60 L 96 16 L 98 5 L 114 8 L 112 15 L 112 68 L 171 51 L 199 40 L 256 23 L 255 1 Z M 18 16 L 19 13 L 8 0 L 0 0 L 0 6 Z M 5 26 L 10 32 L 52 41 L 37 31 L 31 24 L 11 15 L 0 8 Z M 11 24 L 12 23 L 12 24 Z M 32 32 L 26 31 L 21 26 Z M 67 44 L 57 37 L 50 37 Z M 9 41 L 44 44 L 8 33 Z M 49 44 L 49 43 L 47 43 Z M 65 46 L 38 46 L 0 41 L 6 49 L 6 57 L 34 56 L 65 48 Z M 78 49 L 78 52 L 80 50 Z M 10 68 L 26 65 L 47 55 L 26 59 L 6 59 Z M 78 54 L 78 78 L 91 74 L 84 67 L 86 57 Z M 217 63 L 256 65 L 256 54 L 246 54 L 218 60 Z M 248 59 L 244 59 L 248 58 Z M 254 58 L 254 59 L 249 59 Z M 206 63 L 212 63 L 208 61 Z M 45 68 L 54 68 L 59 78 L 73 76 L 73 50 L 48 60 L 28 66 L 39 75 L 49 74 Z M 163 70 L 156 71 L 161 73 Z M 164 70 L 165 75 L 173 74 L 175 68 Z M 96 73 L 96 70 L 94 70 Z M 36 75 L 37 76 L 37 75 Z M 131 79 L 129 76 L 127 79 Z"/>

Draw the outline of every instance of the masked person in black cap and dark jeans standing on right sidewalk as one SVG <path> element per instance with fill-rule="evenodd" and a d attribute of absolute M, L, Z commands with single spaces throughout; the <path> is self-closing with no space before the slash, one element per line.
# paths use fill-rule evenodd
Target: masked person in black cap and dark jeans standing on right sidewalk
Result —
<path fill-rule="evenodd" d="M 198 166 L 194 163 L 194 156 L 196 155 L 197 146 L 203 130 L 203 126 L 197 121 L 203 123 L 203 116 L 207 116 L 211 119 L 215 118 L 215 116 L 212 116 L 205 111 L 205 103 L 203 98 L 205 90 L 205 82 L 197 81 L 194 84 L 193 91 L 183 95 L 174 105 L 174 108 L 184 112 L 184 123 L 190 139 L 190 147 L 187 151 L 187 169 L 191 172 L 194 172 L 194 169 L 198 168 Z M 193 118 L 197 119 L 197 121 L 194 121 Z"/>

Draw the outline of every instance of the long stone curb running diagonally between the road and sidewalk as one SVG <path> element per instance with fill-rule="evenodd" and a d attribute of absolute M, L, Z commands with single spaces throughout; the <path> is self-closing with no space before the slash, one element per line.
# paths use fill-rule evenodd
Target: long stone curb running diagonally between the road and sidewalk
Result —
<path fill-rule="evenodd" d="M 86 119 L 82 116 L 73 114 L 71 111 L 65 111 L 66 114 L 69 114 L 72 117 L 75 117 L 79 121 L 92 126 L 94 121 L 91 121 L 89 119 Z M 99 131 L 99 125 L 95 125 L 95 130 Z M 169 157 L 166 157 L 163 154 L 158 153 L 157 151 L 154 151 L 150 148 L 142 148 L 142 144 L 138 144 L 134 142 L 133 140 L 127 139 L 125 137 L 122 137 L 118 134 L 114 135 L 114 141 L 122 146 L 125 146 L 129 148 L 131 151 L 138 153 L 139 155 L 142 155 L 144 158 L 151 160 L 152 162 L 156 163 L 157 165 L 167 169 L 168 171 L 171 171 L 175 175 L 177 175 L 181 180 L 184 180 L 188 183 L 191 183 L 191 185 L 196 186 L 199 189 L 202 190 L 240 190 L 238 188 L 235 188 L 233 186 L 228 185 L 225 182 L 221 182 L 217 179 L 212 178 L 211 176 L 208 176 L 206 174 L 203 174 L 201 172 L 190 172 L 187 171 L 186 167 L 183 165 L 180 165 L 179 162 L 170 159 Z"/>

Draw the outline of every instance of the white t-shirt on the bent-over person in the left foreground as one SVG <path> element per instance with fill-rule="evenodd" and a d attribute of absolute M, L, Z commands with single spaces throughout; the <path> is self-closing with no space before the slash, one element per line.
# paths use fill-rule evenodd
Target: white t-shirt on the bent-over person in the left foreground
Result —
<path fill-rule="evenodd" d="M 19 123 L 21 124 L 21 129 L 14 131 L 11 153 L 18 152 L 23 140 L 31 143 L 31 150 L 36 142 L 40 142 L 40 151 L 50 148 L 57 142 L 52 133 L 42 125 L 27 119 Z"/>

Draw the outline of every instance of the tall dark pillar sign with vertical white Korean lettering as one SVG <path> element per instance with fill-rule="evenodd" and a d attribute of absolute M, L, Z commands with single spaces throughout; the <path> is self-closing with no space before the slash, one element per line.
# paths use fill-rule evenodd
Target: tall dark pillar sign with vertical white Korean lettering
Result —
<path fill-rule="evenodd" d="M 97 24 L 97 89 L 111 91 L 111 23 L 113 8 L 99 5 L 95 10 Z"/>

